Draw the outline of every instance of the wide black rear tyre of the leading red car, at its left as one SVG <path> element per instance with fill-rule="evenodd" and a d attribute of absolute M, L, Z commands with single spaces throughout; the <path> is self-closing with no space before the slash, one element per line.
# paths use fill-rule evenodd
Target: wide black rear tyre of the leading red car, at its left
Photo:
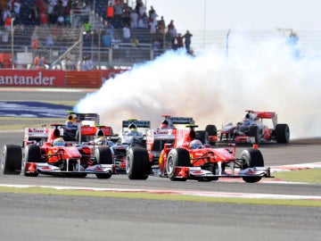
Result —
<path fill-rule="evenodd" d="M 126 173 L 128 179 L 148 179 L 148 175 L 151 173 L 151 165 L 145 148 L 133 146 L 128 149 Z"/>

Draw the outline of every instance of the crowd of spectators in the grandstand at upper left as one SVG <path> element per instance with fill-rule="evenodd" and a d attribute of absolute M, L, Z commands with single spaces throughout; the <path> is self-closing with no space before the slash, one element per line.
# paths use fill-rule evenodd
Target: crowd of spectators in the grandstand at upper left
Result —
<path fill-rule="evenodd" d="M 106 2 L 108 4 L 106 4 Z M 134 2 L 134 1 L 133 1 Z M 103 26 L 93 28 L 90 22 L 90 12 L 95 8 L 93 0 L 0 0 L 0 36 L 3 42 L 8 43 L 12 26 L 15 29 L 23 29 L 25 26 L 44 26 L 49 29 L 45 37 L 43 46 L 53 48 L 63 43 L 63 36 L 71 35 L 72 29 L 82 27 L 84 29 L 84 46 L 117 47 L 119 43 L 127 43 L 133 47 L 139 47 L 141 43 L 152 44 L 153 49 L 168 50 L 185 47 L 187 53 L 192 53 L 191 39 L 193 35 L 187 30 L 185 34 L 177 32 L 174 21 L 166 21 L 163 16 L 159 16 L 153 6 L 147 10 L 142 0 L 136 0 L 133 7 L 124 0 L 95 0 L 95 3 L 105 4 L 103 12 Z M 100 6 L 101 6 L 100 5 Z M 95 8 L 95 10 L 101 10 Z M 78 18 L 77 13 L 88 12 L 86 18 Z M 75 13 L 73 19 L 71 13 Z M 74 16 L 74 15 L 73 15 Z M 138 36 L 136 29 L 144 36 Z M 116 37 L 115 31 L 122 33 Z M 60 37 L 61 36 L 61 37 Z M 32 38 L 32 37 L 31 37 Z M 31 39 L 34 43 L 35 39 Z M 90 44 L 88 44 L 90 43 Z M 32 44 L 31 44 L 32 46 Z M 43 57 L 43 56 L 42 56 Z M 69 64 L 64 59 L 65 69 L 73 69 L 76 64 Z M 91 60 L 82 61 L 82 69 L 90 70 Z M 89 62 L 89 63 L 88 63 Z M 37 56 L 34 62 L 37 68 L 43 68 L 45 61 Z"/>

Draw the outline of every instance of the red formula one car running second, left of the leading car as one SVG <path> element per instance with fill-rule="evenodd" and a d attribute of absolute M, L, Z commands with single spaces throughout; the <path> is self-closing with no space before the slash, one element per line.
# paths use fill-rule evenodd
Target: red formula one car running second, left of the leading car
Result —
<path fill-rule="evenodd" d="M 115 173 L 111 149 L 93 147 L 63 140 L 62 124 L 46 128 L 25 129 L 22 145 L 4 145 L 2 170 L 4 174 L 37 177 L 39 173 L 62 177 L 85 178 L 95 174 L 109 179 Z"/>

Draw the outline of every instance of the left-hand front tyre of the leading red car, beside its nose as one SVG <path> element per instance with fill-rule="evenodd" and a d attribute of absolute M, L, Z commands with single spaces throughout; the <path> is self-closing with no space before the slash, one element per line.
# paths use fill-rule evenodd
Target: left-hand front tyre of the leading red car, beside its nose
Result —
<path fill-rule="evenodd" d="M 185 181 L 186 179 L 175 177 L 176 167 L 191 167 L 191 159 L 189 153 L 184 148 L 175 148 L 169 151 L 166 162 L 166 172 L 169 175 L 169 179 Z"/>

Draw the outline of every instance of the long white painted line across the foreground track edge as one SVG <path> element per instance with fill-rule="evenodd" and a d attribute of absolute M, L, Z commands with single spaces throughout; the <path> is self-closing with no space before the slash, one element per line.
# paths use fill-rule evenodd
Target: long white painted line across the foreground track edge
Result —
<path fill-rule="evenodd" d="M 255 194 L 255 193 L 226 193 L 226 192 L 199 192 L 199 191 L 177 191 L 177 190 L 152 190 L 152 189 L 128 189 L 128 188 L 102 188 L 102 187 L 62 187 L 62 186 L 32 186 L 32 185 L 6 185 L 0 187 L 42 187 L 56 190 L 83 190 L 83 191 L 105 191 L 116 193 L 148 193 L 167 195 L 193 195 L 207 197 L 229 197 L 229 198 L 264 198 L 264 199 L 286 199 L 286 200 L 321 200 L 321 195 L 277 195 L 277 194 Z"/>

